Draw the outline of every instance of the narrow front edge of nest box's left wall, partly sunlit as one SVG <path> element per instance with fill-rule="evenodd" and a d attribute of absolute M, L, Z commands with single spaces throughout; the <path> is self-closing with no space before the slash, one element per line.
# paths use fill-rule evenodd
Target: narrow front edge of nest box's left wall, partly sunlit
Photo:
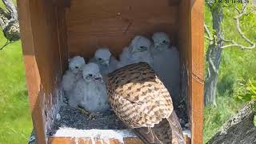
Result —
<path fill-rule="evenodd" d="M 44 142 L 46 135 L 44 134 L 44 123 L 42 111 L 39 106 L 39 92 L 41 78 L 38 71 L 38 64 L 34 54 L 34 42 L 32 34 L 32 26 L 30 20 L 29 1 L 18 0 L 18 19 L 21 29 L 23 59 L 26 68 L 26 85 L 28 87 L 30 110 L 33 118 L 33 125 L 36 128 L 38 142 Z"/>

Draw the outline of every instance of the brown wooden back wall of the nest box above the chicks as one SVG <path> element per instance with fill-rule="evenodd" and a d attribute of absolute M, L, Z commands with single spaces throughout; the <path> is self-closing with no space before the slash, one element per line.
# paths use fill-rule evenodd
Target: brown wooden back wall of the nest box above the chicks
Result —
<path fill-rule="evenodd" d="M 178 5 L 169 0 L 72 0 L 66 10 L 70 55 L 92 56 L 99 46 L 117 55 L 136 34 L 150 38 L 156 31 L 176 43 Z"/>

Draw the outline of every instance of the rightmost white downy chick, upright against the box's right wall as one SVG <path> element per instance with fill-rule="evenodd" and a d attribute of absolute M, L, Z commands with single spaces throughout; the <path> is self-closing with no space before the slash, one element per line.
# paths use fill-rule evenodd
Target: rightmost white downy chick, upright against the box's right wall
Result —
<path fill-rule="evenodd" d="M 180 95 L 179 52 L 176 47 L 170 47 L 170 38 L 166 33 L 154 33 L 152 37 L 154 48 L 151 53 L 154 58 L 153 68 L 161 78 L 174 99 Z"/>

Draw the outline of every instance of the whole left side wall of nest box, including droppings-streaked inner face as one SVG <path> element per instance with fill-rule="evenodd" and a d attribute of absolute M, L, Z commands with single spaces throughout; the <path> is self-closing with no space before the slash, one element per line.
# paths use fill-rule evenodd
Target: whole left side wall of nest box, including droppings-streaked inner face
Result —
<path fill-rule="evenodd" d="M 46 129 L 54 120 L 52 106 L 62 76 L 57 9 L 43 0 L 18 0 L 22 50 L 30 110 L 38 143 L 46 143 Z"/>

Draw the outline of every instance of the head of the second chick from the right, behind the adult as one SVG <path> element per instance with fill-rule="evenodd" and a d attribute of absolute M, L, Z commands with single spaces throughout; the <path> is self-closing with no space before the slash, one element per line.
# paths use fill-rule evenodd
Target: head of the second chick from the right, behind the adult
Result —
<path fill-rule="evenodd" d="M 145 52 L 149 51 L 151 42 L 148 38 L 145 38 L 141 35 L 136 36 L 130 44 L 131 53 Z"/>

